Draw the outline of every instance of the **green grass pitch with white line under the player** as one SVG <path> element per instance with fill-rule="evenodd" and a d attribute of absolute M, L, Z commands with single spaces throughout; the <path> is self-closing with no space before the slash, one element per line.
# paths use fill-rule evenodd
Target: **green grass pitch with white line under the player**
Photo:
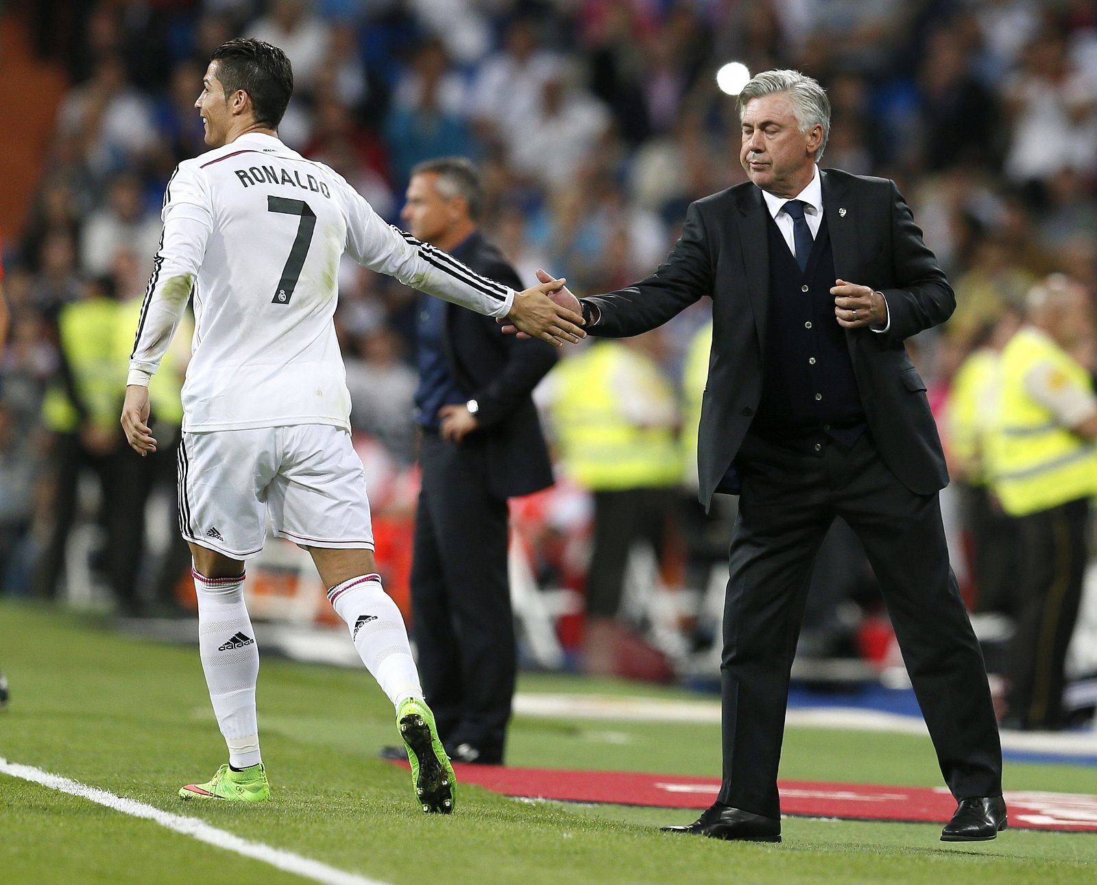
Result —
<path fill-rule="evenodd" d="M 188 781 L 224 761 L 196 648 L 146 643 L 49 608 L 0 603 L 0 666 L 13 703 L 0 757 L 385 883 L 1097 882 L 1097 836 L 1009 830 L 949 846 L 936 825 L 785 819 L 780 846 L 659 835 L 690 812 L 528 803 L 476 787 L 450 817 L 418 810 L 406 772 L 376 752 L 393 711 L 364 670 L 267 658 L 259 680 L 274 801 L 183 804 Z M 528 677 L 522 691 L 686 696 L 635 684 Z M 514 765 L 712 775 L 715 726 L 518 718 Z M 936 786 L 929 742 L 902 735 L 790 729 L 783 778 Z M 1086 767 L 1009 764 L 1008 790 L 1097 791 Z M 156 824 L 0 774 L 0 883 L 301 883 Z"/>

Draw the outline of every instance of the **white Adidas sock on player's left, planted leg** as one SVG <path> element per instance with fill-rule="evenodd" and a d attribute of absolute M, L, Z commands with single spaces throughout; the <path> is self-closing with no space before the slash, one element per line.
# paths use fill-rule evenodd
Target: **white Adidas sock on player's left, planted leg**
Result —
<path fill-rule="evenodd" d="M 262 761 L 256 715 L 259 647 L 244 604 L 244 575 L 206 578 L 194 569 L 199 597 L 199 651 L 217 725 L 228 745 L 228 764 Z"/>

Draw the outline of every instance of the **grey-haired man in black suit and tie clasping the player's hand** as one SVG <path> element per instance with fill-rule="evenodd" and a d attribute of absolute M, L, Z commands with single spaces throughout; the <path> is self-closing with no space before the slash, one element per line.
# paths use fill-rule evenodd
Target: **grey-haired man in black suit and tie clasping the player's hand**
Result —
<path fill-rule="evenodd" d="M 952 290 L 893 182 L 819 172 L 830 109 L 815 80 L 760 73 L 739 113 L 750 181 L 693 203 L 654 274 L 581 303 L 588 332 L 612 338 L 712 298 L 700 497 L 709 506 L 715 491 L 740 493 L 724 609 L 723 786 L 699 820 L 666 829 L 780 841 L 789 672 L 815 553 L 841 517 L 880 579 L 959 803 L 941 838 L 993 839 L 1006 825 L 1002 749 L 945 545 L 945 457 L 903 344 L 948 319 Z M 566 290 L 557 300 L 578 307 Z"/>

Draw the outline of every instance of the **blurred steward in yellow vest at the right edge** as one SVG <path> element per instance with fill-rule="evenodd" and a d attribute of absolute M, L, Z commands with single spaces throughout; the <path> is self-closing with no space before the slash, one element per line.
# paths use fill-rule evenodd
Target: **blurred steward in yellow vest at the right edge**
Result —
<path fill-rule="evenodd" d="M 1033 287 L 1028 325 L 1002 353 L 987 472 L 1018 520 L 1020 608 L 1006 724 L 1061 728 L 1063 665 L 1077 620 L 1097 493 L 1097 396 L 1075 356 L 1094 345 L 1094 305 L 1062 274 Z"/>

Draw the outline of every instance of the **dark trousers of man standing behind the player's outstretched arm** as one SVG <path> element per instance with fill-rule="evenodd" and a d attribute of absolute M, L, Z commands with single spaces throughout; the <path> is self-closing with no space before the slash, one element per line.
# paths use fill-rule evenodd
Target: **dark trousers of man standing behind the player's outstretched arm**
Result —
<path fill-rule="evenodd" d="M 507 577 L 507 501 L 488 490 L 475 436 L 425 433 L 411 561 L 419 674 L 446 747 L 502 760 L 517 653 Z"/>

